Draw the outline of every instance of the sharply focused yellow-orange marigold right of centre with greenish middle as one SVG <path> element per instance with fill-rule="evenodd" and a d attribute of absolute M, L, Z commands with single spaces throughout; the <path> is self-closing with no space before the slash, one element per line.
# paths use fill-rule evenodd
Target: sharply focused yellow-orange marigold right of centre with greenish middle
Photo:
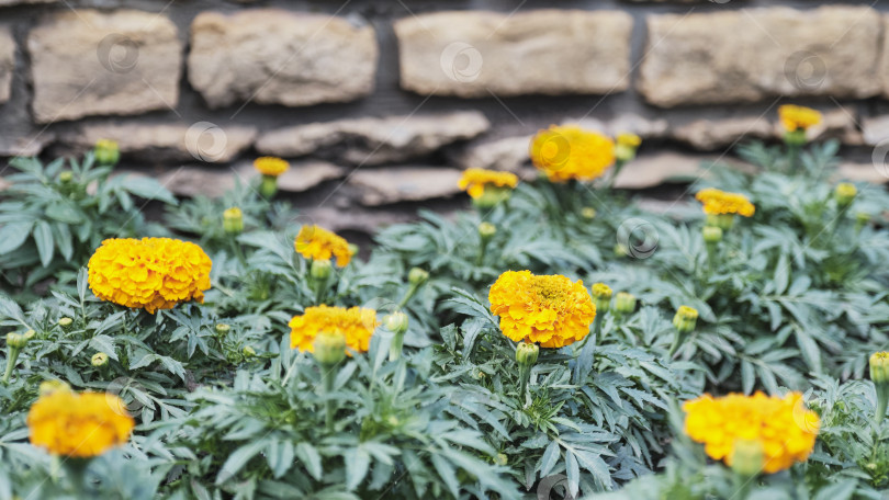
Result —
<path fill-rule="evenodd" d="M 584 282 L 562 275 L 507 271 L 491 287 L 488 299 L 491 311 L 500 317 L 503 334 L 516 342 L 539 342 L 542 348 L 582 340 L 596 318 Z"/>

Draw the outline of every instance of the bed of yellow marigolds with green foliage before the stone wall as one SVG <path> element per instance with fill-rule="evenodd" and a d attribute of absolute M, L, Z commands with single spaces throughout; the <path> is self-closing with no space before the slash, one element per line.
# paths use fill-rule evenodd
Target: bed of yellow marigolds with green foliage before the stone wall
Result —
<path fill-rule="evenodd" d="M 279 159 L 181 203 L 13 160 L 0 498 L 880 498 L 889 196 L 781 113 L 668 215 L 609 189 L 637 137 L 542 130 L 367 261 Z"/>

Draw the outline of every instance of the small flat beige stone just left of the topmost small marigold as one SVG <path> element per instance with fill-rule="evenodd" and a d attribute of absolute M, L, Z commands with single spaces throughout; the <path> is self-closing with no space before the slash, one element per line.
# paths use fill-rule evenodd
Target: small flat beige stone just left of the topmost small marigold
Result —
<path fill-rule="evenodd" d="M 775 125 L 763 116 L 727 120 L 696 120 L 676 127 L 673 138 L 710 151 L 740 143 L 744 138 L 766 139 L 775 136 Z"/>

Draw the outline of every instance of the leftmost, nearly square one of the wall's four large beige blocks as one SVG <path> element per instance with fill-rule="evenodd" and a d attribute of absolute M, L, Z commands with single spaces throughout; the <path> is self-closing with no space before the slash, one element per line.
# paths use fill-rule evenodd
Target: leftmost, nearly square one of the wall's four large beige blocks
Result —
<path fill-rule="evenodd" d="M 57 11 L 27 37 L 38 123 L 177 105 L 182 44 L 162 14 Z"/>

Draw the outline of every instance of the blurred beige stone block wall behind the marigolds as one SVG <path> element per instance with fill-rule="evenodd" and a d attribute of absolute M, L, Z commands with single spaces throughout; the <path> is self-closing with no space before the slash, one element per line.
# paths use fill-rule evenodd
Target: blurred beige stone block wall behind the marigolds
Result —
<path fill-rule="evenodd" d="M 795 102 L 881 182 L 888 26 L 840 0 L 0 0 L 0 156 L 113 138 L 180 195 L 281 156 L 308 216 L 367 230 L 462 203 L 463 168 L 527 172 L 551 123 L 642 136 L 618 185 L 646 189 Z"/>

